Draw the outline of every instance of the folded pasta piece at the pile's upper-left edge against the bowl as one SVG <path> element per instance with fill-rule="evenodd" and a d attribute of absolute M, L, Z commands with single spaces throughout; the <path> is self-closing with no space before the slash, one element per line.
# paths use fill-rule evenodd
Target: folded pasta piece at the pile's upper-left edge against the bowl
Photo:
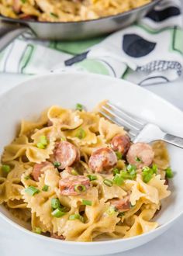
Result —
<path fill-rule="evenodd" d="M 21 137 L 22 135 L 29 134 L 33 132 L 33 130 L 35 129 L 42 128 L 47 122 L 48 122 L 47 111 L 42 112 L 40 119 L 38 119 L 36 122 L 29 122 L 26 120 L 22 120 L 19 137 Z"/>

